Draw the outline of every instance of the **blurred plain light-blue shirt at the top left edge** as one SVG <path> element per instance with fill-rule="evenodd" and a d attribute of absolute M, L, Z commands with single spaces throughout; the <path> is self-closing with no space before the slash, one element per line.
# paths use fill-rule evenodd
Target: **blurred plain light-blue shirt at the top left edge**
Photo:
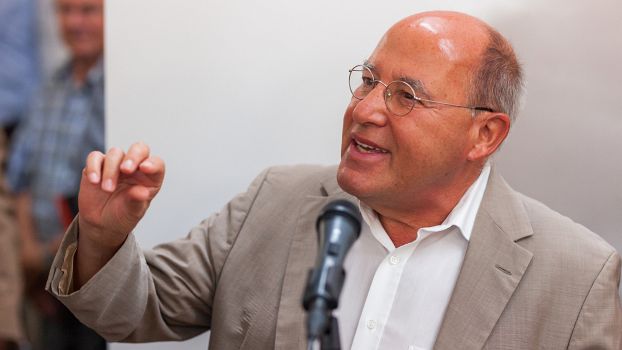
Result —
<path fill-rule="evenodd" d="M 35 4 L 0 1 L 0 127 L 18 121 L 39 81 Z"/>

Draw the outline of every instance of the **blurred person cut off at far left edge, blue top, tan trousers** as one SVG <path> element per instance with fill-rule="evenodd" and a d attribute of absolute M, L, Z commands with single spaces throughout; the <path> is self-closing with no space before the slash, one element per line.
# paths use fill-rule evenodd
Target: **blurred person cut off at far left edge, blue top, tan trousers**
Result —
<path fill-rule="evenodd" d="M 9 137 L 39 82 L 35 0 L 0 1 L 0 350 L 15 349 L 22 282 L 14 203 L 4 180 Z"/>

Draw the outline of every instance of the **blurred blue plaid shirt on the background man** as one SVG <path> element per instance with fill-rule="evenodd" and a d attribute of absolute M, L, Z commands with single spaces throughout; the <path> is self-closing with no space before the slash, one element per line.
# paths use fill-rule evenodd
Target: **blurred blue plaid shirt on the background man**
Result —
<path fill-rule="evenodd" d="M 103 62 L 76 86 L 63 67 L 35 96 L 18 126 L 7 169 L 13 192 L 28 191 L 41 241 L 62 232 L 59 199 L 78 194 L 84 160 L 104 149 Z"/>

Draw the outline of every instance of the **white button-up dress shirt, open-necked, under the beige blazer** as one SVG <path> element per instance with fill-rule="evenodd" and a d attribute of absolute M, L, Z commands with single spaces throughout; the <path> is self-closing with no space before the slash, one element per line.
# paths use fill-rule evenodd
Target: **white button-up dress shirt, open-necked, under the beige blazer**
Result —
<path fill-rule="evenodd" d="M 489 175 L 487 163 L 442 224 L 419 229 L 416 240 L 399 248 L 376 213 L 359 203 L 365 224 L 346 257 L 335 312 L 342 348 L 432 349 Z"/>

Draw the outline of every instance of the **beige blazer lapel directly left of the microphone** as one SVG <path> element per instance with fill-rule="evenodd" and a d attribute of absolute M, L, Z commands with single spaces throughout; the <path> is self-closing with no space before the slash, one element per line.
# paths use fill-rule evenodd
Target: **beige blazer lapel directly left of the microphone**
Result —
<path fill-rule="evenodd" d="M 326 179 L 322 186 L 324 195 L 308 196 L 298 213 L 299 220 L 292 236 L 281 289 L 274 346 L 277 350 L 306 349 L 302 294 L 318 251 L 315 222 L 322 208 L 330 201 L 353 198 L 339 188 L 334 176 Z"/>

